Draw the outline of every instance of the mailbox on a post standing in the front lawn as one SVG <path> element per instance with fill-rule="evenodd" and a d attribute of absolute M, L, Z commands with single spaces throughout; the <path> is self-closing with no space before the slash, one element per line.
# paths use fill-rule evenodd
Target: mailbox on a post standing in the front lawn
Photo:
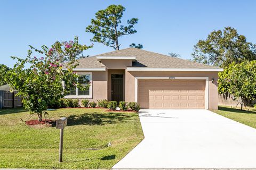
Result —
<path fill-rule="evenodd" d="M 60 129 L 60 148 L 59 148 L 59 162 L 62 162 L 62 148 L 63 148 L 63 132 L 64 128 L 67 126 L 67 117 L 61 117 L 56 121 L 56 128 Z"/>

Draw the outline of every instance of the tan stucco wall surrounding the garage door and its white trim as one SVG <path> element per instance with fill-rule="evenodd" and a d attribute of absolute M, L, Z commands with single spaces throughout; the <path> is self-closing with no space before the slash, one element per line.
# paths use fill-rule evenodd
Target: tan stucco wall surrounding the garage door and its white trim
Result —
<path fill-rule="evenodd" d="M 125 101 L 135 101 L 135 77 L 209 77 L 209 109 L 218 109 L 218 72 L 126 71 Z"/>

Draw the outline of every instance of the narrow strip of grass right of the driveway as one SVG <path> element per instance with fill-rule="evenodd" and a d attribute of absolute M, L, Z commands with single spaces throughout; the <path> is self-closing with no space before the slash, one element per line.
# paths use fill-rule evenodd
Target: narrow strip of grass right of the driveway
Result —
<path fill-rule="evenodd" d="M 230 118 L 231 120 L 246 124 L 252 128 L 256 128 L 256 111 L 250 109 L 250 111 L 239 110 L 236 108 L 230 108 L 228 106 L 219 106 L 219 110 L 213 111 L 219 115 Z"/>

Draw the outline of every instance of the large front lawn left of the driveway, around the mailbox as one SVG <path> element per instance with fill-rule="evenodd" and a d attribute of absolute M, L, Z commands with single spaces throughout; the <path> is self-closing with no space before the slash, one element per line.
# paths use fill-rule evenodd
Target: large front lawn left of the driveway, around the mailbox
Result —
<path fill-rule="evenodd" d="M 26 125 L 20 118 L 25 121 L 31 115 L 24 109 L 1 109 L 0 168 L 111 168 L 138 145 L 143 133 L 137 113 L 105 110 L 49 111 L 47 118 L 52 120 L 68 118 L 63 163 L 58 163 L 59 129 Z"/>

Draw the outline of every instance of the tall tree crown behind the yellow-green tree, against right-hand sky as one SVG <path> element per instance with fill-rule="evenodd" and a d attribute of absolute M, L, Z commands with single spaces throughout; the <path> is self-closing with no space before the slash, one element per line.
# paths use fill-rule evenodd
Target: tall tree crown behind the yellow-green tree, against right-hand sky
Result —
<path fill-rule="evenodd" d="M 236 29 L 226 27 L 211 32 L 206 40 L 199 40 L 192 56 L 195 62 L 225 67 L 232 62 L 256 60 L 256 45 L 238 35 Z"/>

